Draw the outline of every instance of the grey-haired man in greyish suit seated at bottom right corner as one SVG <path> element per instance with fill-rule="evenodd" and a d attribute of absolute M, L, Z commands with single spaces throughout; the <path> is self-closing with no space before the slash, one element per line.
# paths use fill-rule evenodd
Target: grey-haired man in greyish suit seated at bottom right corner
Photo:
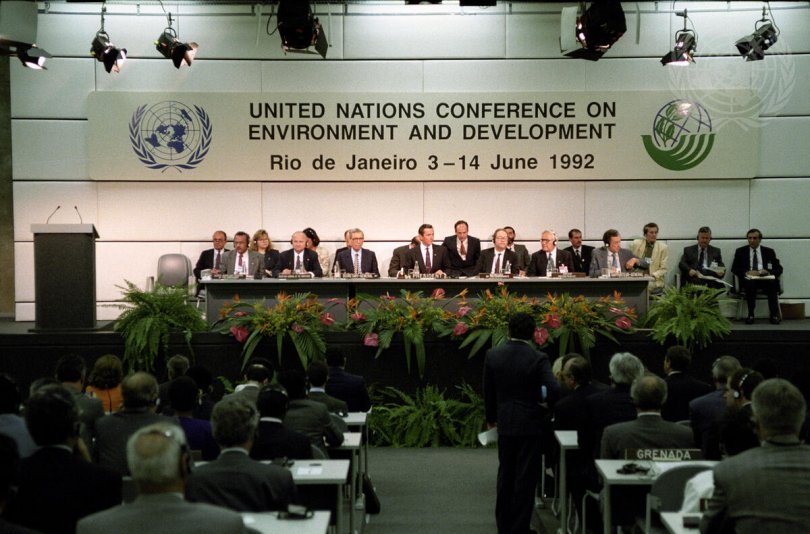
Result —
<path fill-rule="evenodd" d="M 799 440 L 806 402 L 787 380 L 753 393 L 763 444 L 714 467 L 714 494 L 700 521 L 704 534 L 803 533 L 810 517 L 810 446 Z"/>

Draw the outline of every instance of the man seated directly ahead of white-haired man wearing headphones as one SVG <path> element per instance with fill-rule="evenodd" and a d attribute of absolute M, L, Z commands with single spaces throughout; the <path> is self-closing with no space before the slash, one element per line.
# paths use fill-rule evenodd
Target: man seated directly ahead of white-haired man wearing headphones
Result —
<path fill-rule="evenodd" d="M 120 411 L 102 417 L 96 423 L 95 455 L 99 464 L 124 476 L 127 468 L 127 440 L 136 430 L 154 423 L 175 424 L 156 414 L 158 384 L 149 373 L 137 372 L 121 383 L 124 403 Z M 185 438 L 184 440 L 185 441 Z"/>

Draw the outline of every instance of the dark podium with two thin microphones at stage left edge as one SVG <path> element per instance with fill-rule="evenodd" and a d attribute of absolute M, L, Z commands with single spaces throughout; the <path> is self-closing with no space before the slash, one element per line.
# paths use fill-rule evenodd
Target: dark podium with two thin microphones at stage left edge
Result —
<path fill-rule="evenodd" d="M 32 224 L 36 330 L 96 328 L 92 224 Z"/>

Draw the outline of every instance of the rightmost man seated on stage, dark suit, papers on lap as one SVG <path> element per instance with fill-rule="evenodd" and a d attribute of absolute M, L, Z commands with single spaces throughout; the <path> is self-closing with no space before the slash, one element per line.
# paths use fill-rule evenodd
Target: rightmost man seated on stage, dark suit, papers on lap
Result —
<path fill-rule="evenodd" d="M 760 246 L 762 232 L 751 228 L 746 234 L 748 245 L 734 252 L 734 263 L 731 272 L 737 277 L 739 287 L 745 292 L 748 301 L 748 318 L 746 324 L 754 323 L 754 309 L 757 305 L 757 291 L 768 296 L 768 310 L 772 324 L 781 322 L 779 311 L 779 277 L 782 276 L 782 264 L 776 258 L 772 248 Z M 760 276 L 773 276 L 772 280 L 763 280 Z"/>

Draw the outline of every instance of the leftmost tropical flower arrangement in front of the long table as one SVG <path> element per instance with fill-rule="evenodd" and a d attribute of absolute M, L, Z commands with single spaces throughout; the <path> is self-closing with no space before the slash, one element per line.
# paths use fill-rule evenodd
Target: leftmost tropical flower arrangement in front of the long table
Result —
<path fill-rule="evenodd" d="M 328 303 L 331 306 L 342 304 L 337 299 Z M 310 360 L 323 356 L 326 352 L 324 332 L 331 327 L 334 316 L 312 293 L 288 295 L 280 292 L 274 305 L 265 301 L 255 304 L 241 302 L 235 295 L 233 302 L 225 303 L 220 310 L 220 320 L 213 330 L 230 334 L 243 343 L 242 365 L 244 366 L 263 337 L 275 337 L 278 356 L 281 358 L 282 343 L 289 336 L 306 369 Z"/>

